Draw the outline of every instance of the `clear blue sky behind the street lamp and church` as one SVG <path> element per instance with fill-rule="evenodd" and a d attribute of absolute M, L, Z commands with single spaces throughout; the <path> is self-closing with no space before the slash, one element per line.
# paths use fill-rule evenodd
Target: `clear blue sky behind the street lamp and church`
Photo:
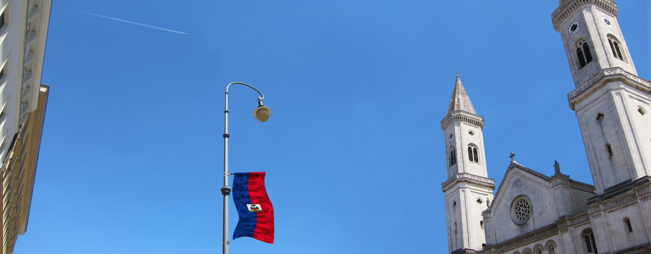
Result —
<path fill-rule="evenodd" d="M 221 253 L 234 81 L 273 109 L 260 123 L 255 91 L 231 88 L 230 170 L 267 172 L 276 238 L 240 238 L 231 253 L 445 253 L 439 121 L 456 71 L 486 120 L 489 177 L 501 181 L 513 152 L 592 183 L 551 25 L 557 6 L 55 0 L 42 79 L 51 92 L 14 253 Z M 618 6 L 649 79 L 647 1 Z"/>

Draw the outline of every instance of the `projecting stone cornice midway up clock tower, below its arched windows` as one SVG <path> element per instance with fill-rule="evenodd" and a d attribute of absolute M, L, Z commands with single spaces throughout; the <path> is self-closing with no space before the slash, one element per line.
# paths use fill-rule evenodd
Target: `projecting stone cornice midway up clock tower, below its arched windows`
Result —
<path fill-rule="evenodd" d="M 603 84 L 606 79 L 623 79 L 628 81 L 627 83 L 636 86 L 638 89 L 643 92 L 651 92 L 651 82 L 637 77 L 636 75 L 631 74 L 628 71 L 625 71 L 622 68 L 607 68 L 599 71 L 596 75 L 592 76 L 588 81 L 585 81 L 583 84 L 578 86 L 574 91 L 568 94 L 568 101 L 570 101 L 570 108 L 575 110 L 574 105 L 576 104 L 577 98 L 581 97 L 583 94 L 587 94 L 586 91 L 590 88 L 597 87 L 598 84 Z"/>

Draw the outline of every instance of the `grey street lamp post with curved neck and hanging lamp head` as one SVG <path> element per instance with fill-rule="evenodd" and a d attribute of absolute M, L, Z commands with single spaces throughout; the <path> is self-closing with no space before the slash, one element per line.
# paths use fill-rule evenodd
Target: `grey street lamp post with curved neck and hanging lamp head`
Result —
<path fill-rule="evenodd" d="M 226 86 L 226 110 L 224 110 L 224 186 L 221 187 L 221 194 L 224 195 L 224 235 L 223 235 L 223 254 L 229 254 L 229 87 L 231 84 L 243 84 L 253 88 L 260 94 L 258 96 L 258 107 L 253 110 L 253 117 L 258 121 L 267 121 L 271 116 L 271 108 L 262 105 L 264 95 L 255 87 L 249 84 L 234 82 Z"/>

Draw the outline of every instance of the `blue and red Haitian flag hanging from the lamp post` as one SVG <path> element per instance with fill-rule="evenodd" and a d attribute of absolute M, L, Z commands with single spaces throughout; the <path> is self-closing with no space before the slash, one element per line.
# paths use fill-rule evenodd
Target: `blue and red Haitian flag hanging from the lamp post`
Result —
<path fill-rule="evenodd" d="M 249 236 L 273 244 L 273 206 L 264 188 L 264 174 L 235 173 L 232 194 L 240 221 L 233 240 Z"/>

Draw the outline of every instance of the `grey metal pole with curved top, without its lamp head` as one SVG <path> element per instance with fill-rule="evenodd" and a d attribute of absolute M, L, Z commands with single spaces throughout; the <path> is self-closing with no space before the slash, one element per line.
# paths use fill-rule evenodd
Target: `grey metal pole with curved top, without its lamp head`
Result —
<path fill-rule="evenodd" d="M 244 84 L 240 82 L 234 82 L 230 83 L 228 86 L 226 86 L 226 110 L 224 110 L 225 118 L 224 118 L 224 186 L 221 187 L 221 194 L 224 195 L 224 232 L 223 232 L 223 254 L 229 254 L 229 194 L 230 194 L 230 187 L 229 187 L 229 86 L 231 84 L 243 84 L 245 86 L 249 86 L 250 88 L 253 88 L 260 94 L 262 97 L 258 97 L 258 103 L 262 105 L 262 100 L 264 99 L 264 95 L 260 91 L 258 91 L 255 87 L 250 86 L 249 84 Z"/>

